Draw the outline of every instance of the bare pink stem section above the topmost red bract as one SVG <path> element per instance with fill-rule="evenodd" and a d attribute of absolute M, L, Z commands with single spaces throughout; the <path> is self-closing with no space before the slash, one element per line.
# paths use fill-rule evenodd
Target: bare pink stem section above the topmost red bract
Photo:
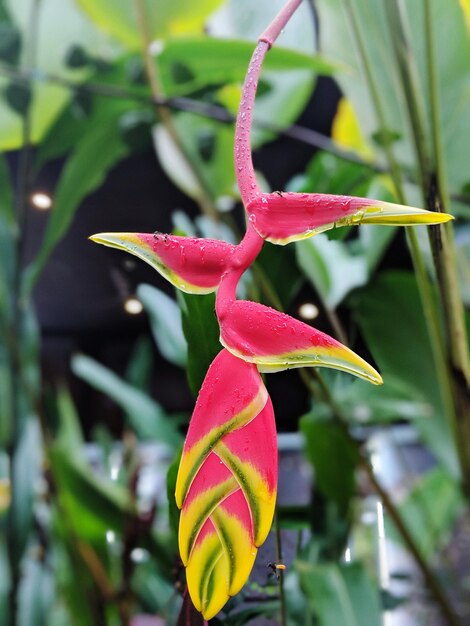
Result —
<path fill-rule="evenodd" d="M 259 75 L 266 52 L 276 41 L 279 33 L 287 24 L 294 11 L 302 0 L 289 0 L 273 22 L 264 31 L 251 57 L 250 65 L 243 84 L 240 107 L 238 109 L 235 126 L 235 173 L 238 188 L 243 200 L 247 204 L 261 193 L 256 182 L 253 160 L 251 157 L 251 126 L 253 122 L 253 107 L 255 104 L 256 89 Z"/>

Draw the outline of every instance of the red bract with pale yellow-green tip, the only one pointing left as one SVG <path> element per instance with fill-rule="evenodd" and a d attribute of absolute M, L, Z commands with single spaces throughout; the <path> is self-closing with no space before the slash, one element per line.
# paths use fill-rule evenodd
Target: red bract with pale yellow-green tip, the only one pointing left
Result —
<path fill-rule="evenodd" d="M 163 233 L 99 233 L 90 239 L 134 254 L 178 289 L 195 294 L 217 289 L 236 250 L 225 241 Z"/>

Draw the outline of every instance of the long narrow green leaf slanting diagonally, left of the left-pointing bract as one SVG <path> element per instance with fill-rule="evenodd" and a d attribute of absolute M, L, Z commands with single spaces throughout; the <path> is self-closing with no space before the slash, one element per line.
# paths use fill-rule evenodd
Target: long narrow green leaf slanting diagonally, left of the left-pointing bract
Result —
<path fill-rule="evenodd" d="M 80 203 L 106 178 L 108 171 L 128 153 L 117 128 L 125 104 L 117 103 L 114 114 L 88 125 L 75 151 L 67 159 L 57 186 L 53 209 L 40 251 L 29 268 L 26 289 L 30 291 L 54 247 L 67 232 Z"/>

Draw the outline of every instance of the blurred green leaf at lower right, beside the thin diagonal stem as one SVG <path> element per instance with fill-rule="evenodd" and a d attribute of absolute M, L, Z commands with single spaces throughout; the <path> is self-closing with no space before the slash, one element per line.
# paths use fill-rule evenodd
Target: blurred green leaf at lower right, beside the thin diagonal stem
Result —
<path fill-rule="evenodd" d="M 458 483 L 437 467 L 416 483 L 399 504 L 400 514 L 423 557 L 429 561 L 452 536 L 458 514 L 464 506 Z M 392 522 L 390 535 L 401 541 Z"/>

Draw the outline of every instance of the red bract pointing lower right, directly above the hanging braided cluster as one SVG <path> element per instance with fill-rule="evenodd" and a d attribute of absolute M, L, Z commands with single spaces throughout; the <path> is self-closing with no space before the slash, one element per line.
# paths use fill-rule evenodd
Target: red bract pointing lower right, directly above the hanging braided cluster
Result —
<path fill-rule="evenodd" d="M 261 372 L 322 366 L 382 384 L 380 374 L 339 341 L 262 304 L 237 300 L 219 323 L 221 343 Z"/>

